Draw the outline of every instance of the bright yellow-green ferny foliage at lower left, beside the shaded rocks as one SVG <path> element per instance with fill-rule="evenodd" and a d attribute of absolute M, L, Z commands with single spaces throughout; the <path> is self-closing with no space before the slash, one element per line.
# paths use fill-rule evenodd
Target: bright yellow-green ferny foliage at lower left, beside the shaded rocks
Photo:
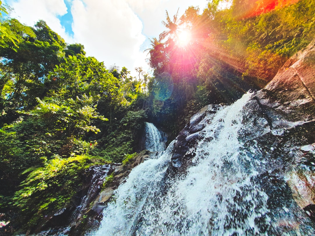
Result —
<path fill-rule="evenodd" d="M 71 199 L 81 187 L 83 171 L 89 167 L 89 156 L 63 159 L 56 156 L 44 167 L 28 169 L 28 177 L 14 194 L 16 206 L 33 227 L 43 218 L 71 204 Z"/>

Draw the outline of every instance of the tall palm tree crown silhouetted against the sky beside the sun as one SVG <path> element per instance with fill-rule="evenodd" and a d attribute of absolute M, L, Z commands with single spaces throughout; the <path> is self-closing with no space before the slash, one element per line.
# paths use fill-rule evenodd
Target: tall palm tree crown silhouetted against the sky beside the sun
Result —
<path fill-rule="evenodd" d="M 178 8 L 179 10 L 179 8 Z M 183 23 L 180 19 L 178 19 L 178 10 L 176 14 L 173 16 L 173 21 L 169 18 L 169 13 L 166 11 L 166 21 L 162 20 L 162 24 L 166 27 L 166 30 L 160 33 L 159 41 L 162 41 L 166 37 L 168 40 L 170 38 L 174 38 L 178 36 L 178 28 Z"/>

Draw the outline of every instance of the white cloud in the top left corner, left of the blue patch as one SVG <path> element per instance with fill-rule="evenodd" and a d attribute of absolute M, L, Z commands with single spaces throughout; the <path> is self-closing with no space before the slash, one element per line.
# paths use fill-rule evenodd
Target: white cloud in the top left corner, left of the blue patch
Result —
<path fill-rule="evenodd" d="M 57 18 L 57 16 L 67 13 L 66 4 L 63 0 L 13 0 L 7 1 L 7 3 L 14 8 L 11 17 L 18 19 L 21 23 L 34 26 L 38 20 L 44 20 L 66 42 L 73 42 Z"/>

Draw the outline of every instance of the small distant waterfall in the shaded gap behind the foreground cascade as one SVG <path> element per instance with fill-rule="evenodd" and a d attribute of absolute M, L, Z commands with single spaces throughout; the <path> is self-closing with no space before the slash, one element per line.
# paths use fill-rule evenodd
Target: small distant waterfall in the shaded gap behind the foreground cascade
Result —
<path fill-rule="evenodd" d="M 165 150 L 165 142 L 162 133 L 152 123 L 145 123 L 145 145 L 144 149 L 151 152 Z"/>

